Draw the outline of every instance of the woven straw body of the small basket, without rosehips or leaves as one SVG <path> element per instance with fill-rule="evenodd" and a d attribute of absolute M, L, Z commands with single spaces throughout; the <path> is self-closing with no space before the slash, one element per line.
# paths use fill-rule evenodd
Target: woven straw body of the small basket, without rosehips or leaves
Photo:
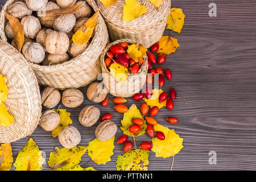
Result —
<path fill-rule="evenodd" d="M 110 75 L 110 72 L 105 64 L 105 55 L 106 52 L 109 51 L 110 47 L 113 45 L 117 45 L 121 42 L 127 42 L 131 44 L 136 44 L 133 40 L 130 39 L 122 39 L 117 40 L 115 42 L 110 43 L 102 52 L 101 54 L 101 69 L 102 69 L 102 80 L 104 82 L 104 85 L 106 88 L 108 88 L 108 91 L 110 94 L 112 94 L 115 97 L 131 97 L 135 93 L 139 93 L 141 91 L 142 86 L 146 82 L 147 77 L 147 56 L 143 57 L 143 64 L 141 65 L 141 68 L 139 69 L 139 72 L 137 75 L 129 75 L 126 82 L 123 83 L 122 81 L 117 80 L 117 78 Z"/>

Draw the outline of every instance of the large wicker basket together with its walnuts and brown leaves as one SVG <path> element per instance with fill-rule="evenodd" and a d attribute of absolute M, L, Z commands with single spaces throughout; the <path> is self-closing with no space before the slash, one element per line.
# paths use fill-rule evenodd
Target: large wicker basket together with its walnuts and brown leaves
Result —
<path fill-rule="evenodd" d="M 93 0 L 9 0 L 0 35 L 22 53 L 40 84 L 79 88 L 101 72 L 100 54 L 108 43 L 97 9 Z"/>

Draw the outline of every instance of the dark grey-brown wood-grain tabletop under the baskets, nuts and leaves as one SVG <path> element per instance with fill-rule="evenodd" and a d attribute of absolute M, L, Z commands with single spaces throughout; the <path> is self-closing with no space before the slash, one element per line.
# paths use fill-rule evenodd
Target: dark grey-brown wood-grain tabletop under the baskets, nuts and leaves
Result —
<path fill-rule="evenodd" d="M 1 5 L 5 3 L 1 0 Z M 210 17 L 209 3 L 216 3 L 217 17 Z M 178 39 L 180 47 L 167 56 L 164 68 L 170 68 L 171 81 L 166 81 L 163 90 L 174 87 L 177 96 L 185 97 L 175 101 L 175 108 L 160 109 L 155 117 L 160 124 L 175 129 L 184 138 L 184 148 L 175 155 L 173 170 L 253 170 L 256 169 L 256 2 L 255 0 L 172 0 L 172 7 L 183 9 L 185 24 L 181 34 L 172 36 Z M 164 35 L 170 35 L 166 30 Z M 80 88 L 86 98 L 86 89 Z M 111 101 L 108 107 L 93 104 L 87 98 L 71 112 L 73 125 L 79 129 L 80 145 L 87 146 L 94 139 L 93 127 L 83 127 L 78 121 L 81 109 L 87 105 L 100 108 L 101 115 L 113 113 L 113 121 L 120 126 L 122 114 L 114 111 Z M 127 106 L 133 104 L 129 98 Z M 136 102 L 137 106 L 141 102 Z M 61 106 L 61 108 L 64 108 Z M 179 123 L 170 125 L 167 116 L 179 118 Z M 121 129 L 115 138 L 122 134 Z M 40 150 L 49 153 L 61 147 L 51 132 L 38 126 L 30 136 Z M 11 143 L 14 161 L 30 137 Z M 137 147 L 147 135 L 137 137 Z M 216 151 L 217 164 L 208 162 L 209 151 Z M 106 165 L 90 162 L 98 170 L 115 170 L 115 161 L 122 155 L 122 145 L 115 145 L 112 161 Z M 46 160 L 46 161 L 47 161 Z M 81 164 L 90 160 L 88 152 L 82 156 Z M 149 170 L 170 170 L 172 158 L 155 158 L 150 151 Z M 47 162 L 43 165 L 48 170 Z M 15 169 L 12 167 L 12 169 Z"/>

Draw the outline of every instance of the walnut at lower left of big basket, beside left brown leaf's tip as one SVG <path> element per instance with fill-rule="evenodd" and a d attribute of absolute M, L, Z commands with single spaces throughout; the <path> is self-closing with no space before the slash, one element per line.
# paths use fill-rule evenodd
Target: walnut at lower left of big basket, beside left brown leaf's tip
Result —
<path fill-rule="evenodd" d="M 26 42 L 22 47 L 22 53 L 27 61 L 39 64 L 44 60 L 44 48 L 36 42 Z"/>

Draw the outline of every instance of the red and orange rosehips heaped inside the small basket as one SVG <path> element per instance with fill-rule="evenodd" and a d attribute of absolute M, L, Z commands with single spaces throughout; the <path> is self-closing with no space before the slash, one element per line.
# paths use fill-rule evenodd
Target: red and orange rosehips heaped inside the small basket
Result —
<path fill-rule="evenodd" d="M 127 68 L 131 74 L 137 75 L 141 65 L 143 64 L 143 57 L 141 57 L 138 63 L 136 63 L 136 61 L 131 59 L 127 53 L 128 46 L 129 43 L 121 42 L 118 45 L 113 45 L 110 47 L 110 50 L 106 53 L 105 58 L 105 64 L 108 69 L 113 63 L 118 63 Z"/>

